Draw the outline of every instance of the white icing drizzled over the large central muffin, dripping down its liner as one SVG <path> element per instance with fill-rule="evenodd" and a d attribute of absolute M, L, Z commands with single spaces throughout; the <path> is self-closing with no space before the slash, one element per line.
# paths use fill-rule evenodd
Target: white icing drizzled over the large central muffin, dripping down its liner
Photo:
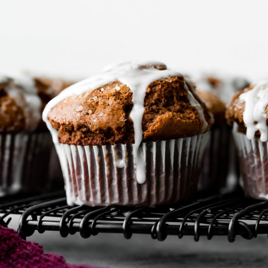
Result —
<path fill-rule="evenodd" d="M 130 117 L 134 124 L 135 143 L 133 144 L 133 151 L 136 164 L 136 178 L 138 183 L 142 184 L 146 180 L 144 155 L 142 146 L 140 146 L 143 139 L 142 117 L 144 113 L 143 104 L 146 90 L 152 82 L 174 76 L 182 77 L 180 73 L 167 69 L 165 64 L 155 61 L 142 63 L 127 62 L 115 66 L 109 66 L 108 68 L 105 68 L 104 73 L 78 82 L 77 84 L 65 89 L 58 96 L 52 99 L 43 111 L 43 120 L 46 122 L 47 127 L 52 134 L 53 141 L 57 145 L 59 143 L 57 130 L 52 127 L 48 120 L 48 114 L 53 107 L 68 96 L 80 95 L 114 81 L 124 83 L 133 92 L 133 108 L 130 113 Z M 203 122 L 203 132 L 205 132 L 208 128 L 208 123 L 205 119 L 204 111 L 199 102 L 191 94 L 186 83 L 185 88 L 188 90 L 189 102 L 198 110 L 200 120 Z"/>

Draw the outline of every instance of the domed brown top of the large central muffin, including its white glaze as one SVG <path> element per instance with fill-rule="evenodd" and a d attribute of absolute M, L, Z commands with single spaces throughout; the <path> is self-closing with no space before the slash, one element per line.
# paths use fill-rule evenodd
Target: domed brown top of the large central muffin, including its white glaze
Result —
<path fill-rule="evenodd" d="M 54 142 L 75 145 L 190 137 L 207 132 L 211 116 L 192 83 L 163 63 L 124 63 L 62 91 L 43 120 Z"/>

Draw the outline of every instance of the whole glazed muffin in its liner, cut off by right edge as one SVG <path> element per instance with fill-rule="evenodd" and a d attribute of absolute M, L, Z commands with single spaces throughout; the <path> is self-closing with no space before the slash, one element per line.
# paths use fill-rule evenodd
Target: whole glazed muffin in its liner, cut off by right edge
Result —
<path fill-rule="evenodd" d="M 233 127 L 245 192 L 268 200 L 268 81 L 235 94 L 226 118 Z"/>

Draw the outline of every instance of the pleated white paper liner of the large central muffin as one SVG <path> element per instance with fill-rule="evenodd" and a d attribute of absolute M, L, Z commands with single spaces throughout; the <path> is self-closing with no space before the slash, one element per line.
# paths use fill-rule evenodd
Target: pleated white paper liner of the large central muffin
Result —
<path fill-rule="evenodd" d="M 136 180 L 131 144 L 57 144 L 69 205 L 155 206 L 192 198 L 208 134 L 146 142 L 146 181 Z"/>

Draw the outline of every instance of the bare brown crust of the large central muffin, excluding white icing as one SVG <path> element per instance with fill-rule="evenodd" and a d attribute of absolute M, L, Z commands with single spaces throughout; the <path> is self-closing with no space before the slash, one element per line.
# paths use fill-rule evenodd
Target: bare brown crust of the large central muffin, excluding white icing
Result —
<path fill-rule="evenodd" d="M 211 117 L 194 89 L 192 94 L 204 109 L 210 128 Z M 142 130 L 144 141 L 165 140 L 202 133 L 203 122 L 188 100 L 183 77 L 170 77 L 149 85 L 144 99 Z M 133 93 L 115 81 L 80 96 L 69 96 L 58 103 L 48 119 L 57 129 L 60 143 L 105 145 L 134 143 L 130 118 Z"/>

